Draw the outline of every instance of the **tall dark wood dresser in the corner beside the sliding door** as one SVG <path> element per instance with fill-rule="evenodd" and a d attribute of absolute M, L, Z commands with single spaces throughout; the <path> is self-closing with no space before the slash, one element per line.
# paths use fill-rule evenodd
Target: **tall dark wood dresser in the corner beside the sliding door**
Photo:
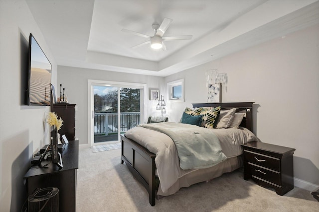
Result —
<path fill-rule="evenodd" d="M 68 103 L 53 104 L 53 112 L 56 113 L 58 118 L 63 119 L 63 125 L 58 133 L 60 137 L 65 135 L 68 141 L 75 140 L 75 105 Z"/>

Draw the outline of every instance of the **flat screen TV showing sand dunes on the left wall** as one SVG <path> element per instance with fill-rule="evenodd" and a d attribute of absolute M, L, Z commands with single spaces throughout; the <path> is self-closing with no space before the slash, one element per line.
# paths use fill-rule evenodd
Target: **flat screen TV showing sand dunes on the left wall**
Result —
<path fill-rule="evenodd" d="M 31 33 L 28 57 L 28 83 L 25 104 L 49 106 L 52 65 Z"/>

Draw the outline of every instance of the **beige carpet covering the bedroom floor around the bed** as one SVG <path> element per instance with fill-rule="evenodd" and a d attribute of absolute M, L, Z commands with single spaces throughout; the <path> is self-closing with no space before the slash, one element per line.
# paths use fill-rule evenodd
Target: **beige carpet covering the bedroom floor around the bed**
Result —
<path fill-rule="evenodd" d="M 284 196 L 243 179 L 242 169 L 182 188 L 150 206 L 148 193 L 120 163 L 120 149 L 92 152 L 80 147 L 77 212 L 318 212 L 309 191 Z"/>

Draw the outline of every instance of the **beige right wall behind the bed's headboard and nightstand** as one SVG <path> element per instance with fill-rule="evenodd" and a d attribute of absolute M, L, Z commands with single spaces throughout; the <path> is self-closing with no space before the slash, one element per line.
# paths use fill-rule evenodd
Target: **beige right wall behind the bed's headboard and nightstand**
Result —
<path fill-rule="evenodd" d="M 319 185 L 319 25 L 165 78 L 184 78 L 185 102 L 167 103 L 178 121 L 191 103 L 207 102 L 205 71 L 228 75 L 222 102 L 254 101 L 255 133 L 263 142 L 296 148 L 295 185 Z"/>

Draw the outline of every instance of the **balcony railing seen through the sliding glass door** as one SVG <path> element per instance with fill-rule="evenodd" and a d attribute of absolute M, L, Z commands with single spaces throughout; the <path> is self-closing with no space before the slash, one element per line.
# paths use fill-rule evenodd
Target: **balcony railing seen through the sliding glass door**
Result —
<path fill-rule="evenodd" d="M 140 112 L 120 113 L 120 132 L 126 132 L 140 124 Z M 118 113 L 95 113 L 94 135 L 118 133 Z"/>

